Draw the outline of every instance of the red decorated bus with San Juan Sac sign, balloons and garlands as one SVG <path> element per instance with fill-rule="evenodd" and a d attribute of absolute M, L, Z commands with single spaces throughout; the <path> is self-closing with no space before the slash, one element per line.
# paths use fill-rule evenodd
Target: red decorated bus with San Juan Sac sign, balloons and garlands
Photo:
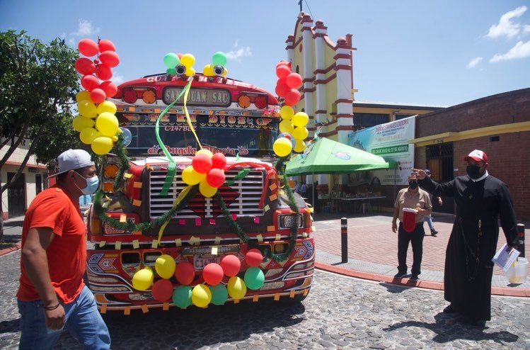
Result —
<path fill-rule="evenodd" d="M 296 142 L 280 135 L 279 102 L 223 64 L 191 72 L 185 56 L 164 57 L 166 74 L 127 81 L 101 102 L 115 104 L 119 130 L 87 217 L 88 287 L 101 312 L 126 314 L 304 300 L 311 210 L 284 178 Z M 100 154 L 103 110 L 90 139 Z"/>

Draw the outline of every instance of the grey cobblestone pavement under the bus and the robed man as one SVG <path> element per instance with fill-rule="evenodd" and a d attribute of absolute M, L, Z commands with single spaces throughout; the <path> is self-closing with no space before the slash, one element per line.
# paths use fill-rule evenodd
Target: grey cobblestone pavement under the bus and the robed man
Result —
<path fill-rule="evenodd" d="M 17 349 L 20 252 L 0 257 L 0 349 Z M 316 271 L 303 303 L 240 303 L 104 315 L 113 349 L 529 349 L 530 299 L 492 298 L 492 321 L 463 323 L 438 290 Z M 57 349 L 81 349 L 67 331 Z"/>

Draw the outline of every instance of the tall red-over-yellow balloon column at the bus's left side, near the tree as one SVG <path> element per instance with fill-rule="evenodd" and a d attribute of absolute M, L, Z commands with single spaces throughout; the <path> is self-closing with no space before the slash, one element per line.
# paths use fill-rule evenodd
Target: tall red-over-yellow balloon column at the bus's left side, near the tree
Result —
<path fill-rule="evenodd" d="M 116 106 L 106 98 L 115 96 L 117 86 L 109 79 L 113 77 L 111 67 L 120 63 L 110 40 L 98 40 L 96 44 L 90 39 L 81 39 L 78 44 L 81 55 L 75 62 L 76 71 L 82 74 L 81 86 L 85 90 L 76 95 L 78 116 L 72 120 L 74 130 L 79 131 L 79 139 L 96 154 L 107 154 L 117 141 L 120 132 L 115 116 Z M 100 80 L 102 80 L 100 82 Z"/>

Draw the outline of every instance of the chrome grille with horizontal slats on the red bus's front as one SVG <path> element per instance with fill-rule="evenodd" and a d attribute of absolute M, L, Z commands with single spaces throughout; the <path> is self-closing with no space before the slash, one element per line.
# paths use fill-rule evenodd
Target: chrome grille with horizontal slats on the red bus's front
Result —
<path fill-rule="evenodd" d="M 226 181 L 234 179 L 238 173 L 238 170 L 225 171 Z M 238 216 L 263 215 L 263 208 L 258 208 L 258 205 L 264 191 L 264 173 L 265 170 L 252 169 L 243 179 L 236 180 L 230 186 L 219 188 L 218 191 L 229 206 L 231 214 Z M 167 196 L 160 196 L 159 193 L 162 191 L 166 174 L 166 170 L 153 170 L 149 173 L 149 214 L 152 219 L 167 213 L 178 197 L 178 193 L 188 186 L 182 181 L 182 170 L 178 170 Z M 214 198 L 204 198 L 197 191 L 197 195 L 188 202 L 186 208 L 176 213 L 173 218 L 197 218 L 199 216 L 214 218 L 219 214 L 221 214 L 219 203 Z"/>

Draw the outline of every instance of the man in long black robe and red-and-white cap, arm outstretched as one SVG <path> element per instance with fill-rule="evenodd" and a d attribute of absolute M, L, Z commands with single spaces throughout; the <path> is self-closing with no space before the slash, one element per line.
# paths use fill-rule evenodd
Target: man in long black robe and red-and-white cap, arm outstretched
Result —
<path fill-rule="evenodd" d="M 452 196 L 456 218 L 447 244 L 444 270 L 444 312 L 459 312 L 473 323 L 491 319 L 492 257 L 497 249 L 499 223 L 508 250 L 517 246 L 517 220 L 505 183 L 488 174 L 488 156 L 475 149 L 463 159 L 468 175 L 444 184 L 413 169 L 420 186 L 434 196 Z"/>

